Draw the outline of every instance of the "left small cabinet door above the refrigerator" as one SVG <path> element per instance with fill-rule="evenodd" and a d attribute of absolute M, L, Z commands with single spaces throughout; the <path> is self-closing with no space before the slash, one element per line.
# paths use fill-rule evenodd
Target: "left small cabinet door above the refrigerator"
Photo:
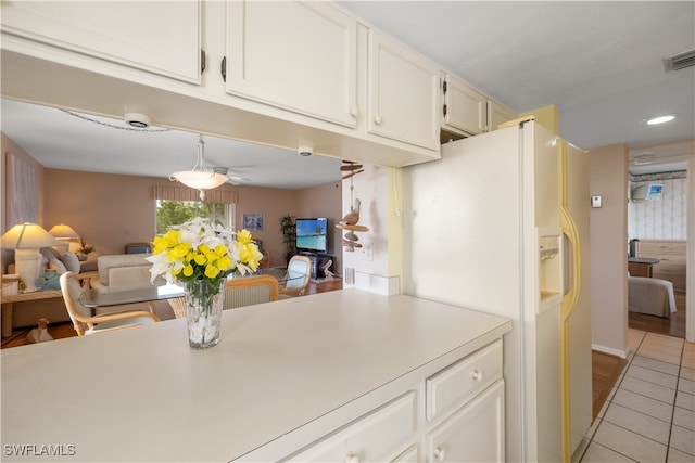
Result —
<path fill-rule="evenodd" d="M 444 76 L 442 90 L 442 125 L 445 128 L 468 134 L 488 131 L 488 97 L 451 74 Z"/>

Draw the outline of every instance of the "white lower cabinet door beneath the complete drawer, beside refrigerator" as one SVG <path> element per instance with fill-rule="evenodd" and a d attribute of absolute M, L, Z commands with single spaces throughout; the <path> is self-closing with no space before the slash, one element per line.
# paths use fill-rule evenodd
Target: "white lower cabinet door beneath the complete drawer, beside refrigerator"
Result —
<path fill-rule="evenodd" d="M 504 461 L 504 381 L 426 436 L 428 462 Z"/>

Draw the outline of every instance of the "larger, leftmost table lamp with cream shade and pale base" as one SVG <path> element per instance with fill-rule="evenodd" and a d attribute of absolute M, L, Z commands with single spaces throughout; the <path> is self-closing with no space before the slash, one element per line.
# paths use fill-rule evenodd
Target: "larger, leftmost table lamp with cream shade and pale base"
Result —
<path fill-rule="evenodd" d="M 45 246 L 60 244 L 52 234 L 36 223 L 17 223 L 0 237 L 3 249 L 14 249 L 15 271 L 25 284 L 25 293 L 35 292 Z"/>

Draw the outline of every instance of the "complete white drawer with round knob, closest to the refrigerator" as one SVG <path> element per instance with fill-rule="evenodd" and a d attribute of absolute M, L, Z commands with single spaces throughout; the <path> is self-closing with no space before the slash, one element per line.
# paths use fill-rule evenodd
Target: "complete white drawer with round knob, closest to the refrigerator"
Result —
<path fill-rule="evenodd" d="M 502 339 L 427 380 L 427 420 L 470 400 L 502 377 Z"/>

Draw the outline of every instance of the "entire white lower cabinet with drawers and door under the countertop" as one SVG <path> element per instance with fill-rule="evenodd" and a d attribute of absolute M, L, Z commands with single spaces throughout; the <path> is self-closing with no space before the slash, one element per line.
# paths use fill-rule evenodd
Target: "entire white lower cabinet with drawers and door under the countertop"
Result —
<path fill-rule="evenodd" d="M 504 461 L 502 371 L 498 339 L 283 461 Z"/>

